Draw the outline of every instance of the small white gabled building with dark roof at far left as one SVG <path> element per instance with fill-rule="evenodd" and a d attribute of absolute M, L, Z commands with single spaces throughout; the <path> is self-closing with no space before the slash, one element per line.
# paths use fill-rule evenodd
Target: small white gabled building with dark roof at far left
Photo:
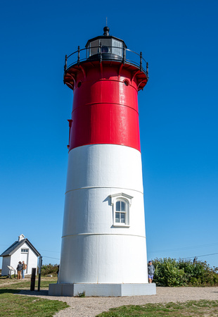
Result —
<path fill-rule="evenodd" d="M 8 266 L 16 269 L 19 261 L 25 261 L 27 264 L 25 274 L 31 274 L 32 268 L 37 268 L 40 254 L 24 235 L 20 235 L 18 241 L 11 244 L 0 256 L 3 257 L 1 276 L 4 276 L 9 274 Z"/>

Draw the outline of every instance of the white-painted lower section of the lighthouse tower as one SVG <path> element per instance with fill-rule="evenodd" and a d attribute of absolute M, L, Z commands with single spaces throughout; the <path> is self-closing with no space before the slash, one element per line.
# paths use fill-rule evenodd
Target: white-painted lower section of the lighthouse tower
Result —
<path fill-rule="evenodd" d="M 115 221 L 116 199 L 127 203 L 126 223 Z M 138 150 L 91 144 L 70 151 L 59 282 L 148 282 Z"/>

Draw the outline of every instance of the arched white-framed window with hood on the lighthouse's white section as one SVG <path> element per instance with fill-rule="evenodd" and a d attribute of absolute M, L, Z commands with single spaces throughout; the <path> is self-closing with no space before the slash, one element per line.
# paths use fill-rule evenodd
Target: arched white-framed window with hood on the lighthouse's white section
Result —
<path fill-rule="evenodd" d="M 129 208 L 133 197 L 120 193 L 110 195 L 110 198 L 113 206 L 113 226 L 129 228 Z"/>

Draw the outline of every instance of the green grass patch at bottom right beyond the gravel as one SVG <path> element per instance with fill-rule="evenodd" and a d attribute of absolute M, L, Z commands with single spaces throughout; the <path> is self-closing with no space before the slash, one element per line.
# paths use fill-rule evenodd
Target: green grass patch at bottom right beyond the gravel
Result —
<path fill-rule="evenodd" d="M 184 303 L 160 303 L 146 305 L 120 306 L 100 313 L 100 317 L 130 316 L 217 316 L 218 301 L 188 301 Z"/>

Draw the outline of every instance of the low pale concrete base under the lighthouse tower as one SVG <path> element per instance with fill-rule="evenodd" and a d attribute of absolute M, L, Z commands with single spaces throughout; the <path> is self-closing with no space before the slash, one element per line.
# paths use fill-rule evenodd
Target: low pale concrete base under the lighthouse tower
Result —
<path fill-rule="evenodd" d="M 83 293 L 85 296 L 99 297 L 123 297 L 123 296 L 141 296 L 155 295 L 156 285 L 153 284 L 50 284 L 49 295 L 51 296 L 69 296 L 75 297 Z"/>

